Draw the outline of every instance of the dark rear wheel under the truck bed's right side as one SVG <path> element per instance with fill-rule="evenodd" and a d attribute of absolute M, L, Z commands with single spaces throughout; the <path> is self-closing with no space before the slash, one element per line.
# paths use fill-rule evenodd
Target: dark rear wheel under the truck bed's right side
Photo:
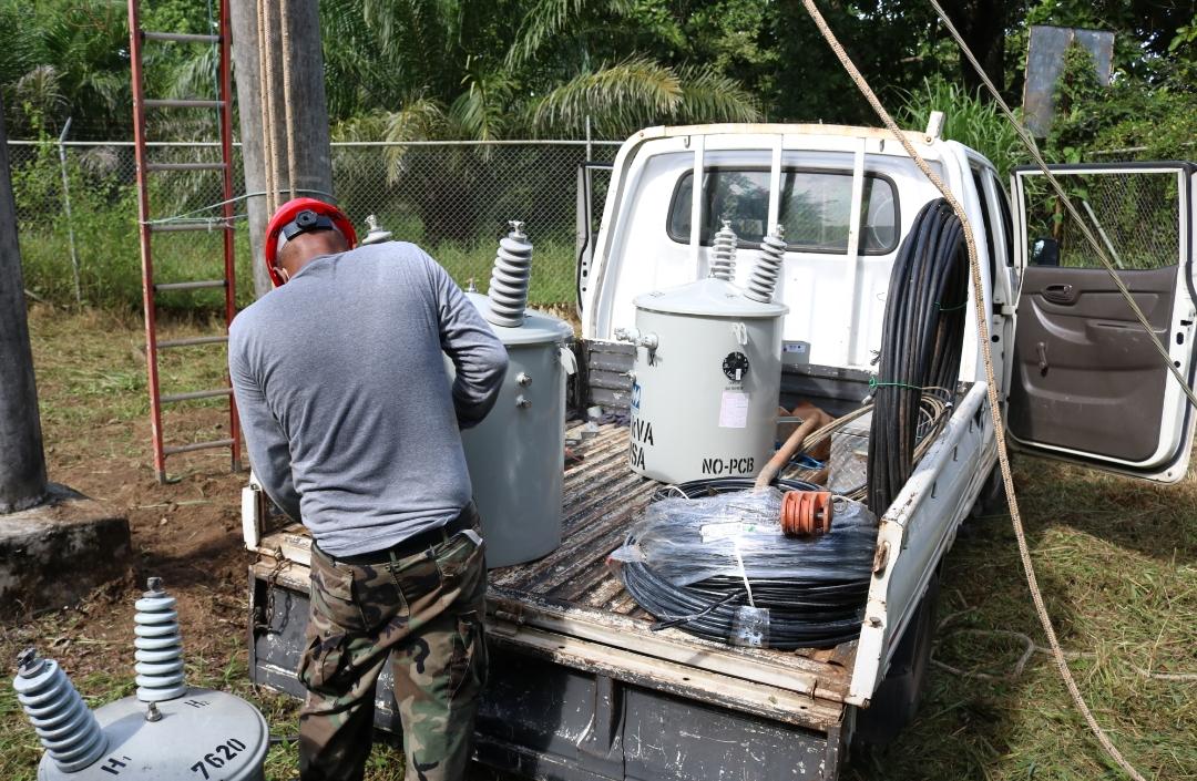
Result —
<path fill-rule="evenodd" d="M 856 739 L 885 745 L 892 742 L 915 719 L 931 661 L 931 641 L 935 636 L 935 614 L 940 600 L 940 574 L 931 575 L 918 609 L 911 618 L 889 671 L 868 708 L 856 713 Z"/>

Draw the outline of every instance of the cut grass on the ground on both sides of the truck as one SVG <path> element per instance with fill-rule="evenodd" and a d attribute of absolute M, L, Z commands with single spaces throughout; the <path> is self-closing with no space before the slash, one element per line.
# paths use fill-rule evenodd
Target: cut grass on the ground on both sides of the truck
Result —
<path fill-rule="evenodd" d="M 183 335 L 207 325 L 202 318 L 172 318 L 166 330 Z M 113 464 L 126 469 L 135 464 L 152 483 L 138 319 L 36 307 L 31 331 L 51 475 L 85 476 Z M 223 373 L 220 350 L 176 350 L 169 360 L 164 376 L 174 388 L 202 388 Z M 181 423 L 188 421 L 176 422 L 168 432 L 182 431 Z M 80 450 L 80 439 L 90 450 Z M 220 470 L 214 463 L 178 462 L 188 470 L 182 484 L 209 492 L 235 514 L 235 490 L 223 484 L 206 488 Z M 1031 458 L 1016 459 L 1016 480 L 1049 610 L 1098 721 L 1148 779 L 1197 777 L 1197 682 L 1137 671 L 1197 672 L 1197 480 L 1149 486 Z M 170 501 L 153 499 L 159 496 L 154 492 L 166 489 L 147 490 L 151 499 L 142 500 L 147 504 Z M 206 581 L 200 587 L 217 594 L 206 599 L 236 604 L 205 628 L 203 643 L 189 647 L 188 678 L 245 696 L 262 708 L 273 733 L 294 734 L 296 703 L 254 691 L 248 683 L 244 614 L 238 612 L 245 599 L 243 584 L 233 582 L 219 594 Z M 7 622 L 0 634 L 0 659 L 11 660 L 19 647 L 37 642 L 45 653 L 69 660 L 68 670 L 91 704 L 124 696 L 132 685 L 130 652 L 124 648 L 127 616 L 119 608 L 126 600 L 121 593 L 98 594 L 77 610 Z M 1020 657 L 1019 641 L 988 630 L 1013 630 L 1046 645 L 1003 513 L 971 520 L 962 529 L 943 565 L 940 621 L 936 658 L 966 672 L 1001 676 Z M 29 781 L 40 749 L 4 678 L 0 776 Z M 294 745 L 272 748 L 267 777 L 293 777 L 296 762 Z M 367 777 L 397 781 L 401 767 L 395 750 L 378 749 Z M 1035 653 L 1013 681 L 932 667 L 916 724 L 888 748 L 855 751 L 844 777 L 1112 781 L 1122 776 L 1073 708 L 1051 659 Z"/>

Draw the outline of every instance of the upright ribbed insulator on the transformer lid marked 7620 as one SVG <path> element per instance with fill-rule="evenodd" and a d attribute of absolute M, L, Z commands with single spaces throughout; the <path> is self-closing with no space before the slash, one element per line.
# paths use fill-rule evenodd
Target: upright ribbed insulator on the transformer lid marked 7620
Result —
<path fill-rule="evenodd" d="M 164 702 L 187 694 L 183 684 L 183 640 L 178 634 L 175 598 L 151 578 L 150 590 L 135 603 L 133 641 L 138 664 L 138 700 Z"/>

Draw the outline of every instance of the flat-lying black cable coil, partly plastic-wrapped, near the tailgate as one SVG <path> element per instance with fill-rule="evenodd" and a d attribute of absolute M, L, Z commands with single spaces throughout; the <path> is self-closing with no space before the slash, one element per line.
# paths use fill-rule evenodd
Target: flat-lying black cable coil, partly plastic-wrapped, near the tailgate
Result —
<path fill-rule="evenodd" d="M 694 500 L 743 492 L 752 484 L 751 478 L 693 481 L 670 486 L 655 499 Z M 777 481 L 773 487 L 783 493 L 818 488 L 789 480 Z M 792 549 L 784 550 L 746 549 L 741 562 L 742 576 L 716 574 L 678 585 L 650 561 L 627 561 L 620 566 L 619 575 L 636 603 L 658 618 L 651 627 L 654 630 L 676 627 L 716 642 L 735 642 L 740 611 L 751 604 L 768 611 L 764 647 L 780 651 L 830 648 L 859 635 L 869 592 L 876 527 L 871 513 L 861 505 L 856 507 L 867 518 L 845 515 L 838 529 L 833 524 L 832 531 L 818 542 L 788 541 Z M 695 537 L 676 539 L 680 545 L 693 550 L 703 549 L 703 543 L 697 539 L 699 532 L 699 527 L 685 525 L 670 530 L 670 533 Z M 777 536 L 782 538 L 779 527 Z M 632 547 L 637 542 L 633 532 L 625 545 Z M 813 574 L 786 574 L 786 561 L 796 560 L 801 560 Z M 789 568 L 792 569 L 792 565 Z M 771 571 L 777 574 L 766 576 Z"/>

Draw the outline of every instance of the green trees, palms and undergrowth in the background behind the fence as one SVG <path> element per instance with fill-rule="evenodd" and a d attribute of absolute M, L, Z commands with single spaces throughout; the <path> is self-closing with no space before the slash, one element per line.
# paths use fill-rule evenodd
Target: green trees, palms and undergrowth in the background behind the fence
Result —
<path fill-rule="evenodd" d="M 1003 0 L 985 13 L 967 0 L 944 5 L 1015 105 L 1029 25 L 1116 32 L 1110 87 L 1095 84 L 1086 56 L 1070 53 L 1058 86 L 1059 116 L 1041 145 L 1050 160 L 1192 157 L 1197 17 L 1183 4 Z M 946 138 L 977 148 L 999 171 L 1028 159 L 929 5 L 867 0 L 824 11 L 904 123 L 920 128 L 931 110 L 942 110 Z M 588 124 L 595 138 L 620 139 L 657 123 L 876 123 L 797 2 L 320 0 L 320 12 L 329 115 L 340 140 L 582 138 Z M 207 0 L 147 4 L 142 14 L 147 29 L 206 32 L 212 24 Z M 147 56 L 147 93 L 212 94 L 211 49 L 156 45 Z M 73 303 L 74 283 L 53 141 L 68 118 L 72 139 L 130 138 L 128 67 L 122 4 L 47 0 L 31 10 L 23 0 L 0 0 L 8 134 L 44 142 L 32 157 L 13 159 L 26 281 L 34 294 L 56 304 Z M 156 112 L 150 121 L 154 139 L 213 132 L 212 116 L 202 111 Z M 1136 151 L 1100 154 L 1126 147 Z M 138 309 L 141 295 L 130 154 L 111 148 L 71 155 L 68 164 L 81 297 L 122 310 Z M 170 154 L 203 161 L 213 151 Z M 466 281 L 485 277 L 497 230 L 535 205 L 537 228 L 559 244 L 537 246 L 551 252 L 547 266 L 560 277 L 552 285 L 539 280 L 533 298 L 542 305 L 571 298 L 572 248 L 564 239 L 572 232 L 572 199 L 543 197 L 560 190 L 559 170 L 530 152 L 503 165 L 487 165 L 490 151 L 438 150 L 436 165 L 412 165 L 411 147 L 381 154 L 382 165 L 375 159 L 369 169 L 335 175 L 351 213 L 384 216 Z M 499 177 L 504 195 L 494 197 Z M 400 184 L 401 197 L 393 195 Z M 158 177 L 154 188 L 156 216 L 219 200 L 215 179 L 200 173 Z M 247 257 L 242 232 L 237 242 L 238 256 Z M 207 279 L 218 268 L 217 234 L 188 233 L 163 245 L 158 279 Z M 244 264 L 238 271 L 248 279 Z M 219 303 L 212 291 L 163 300 L 178 310 Z"/>

